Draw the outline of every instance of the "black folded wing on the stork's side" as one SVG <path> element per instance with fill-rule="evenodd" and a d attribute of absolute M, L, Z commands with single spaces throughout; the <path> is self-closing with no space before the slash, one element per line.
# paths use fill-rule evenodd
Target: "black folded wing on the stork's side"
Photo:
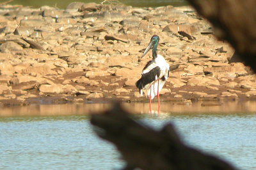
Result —
<path fill-rule="evenodd" d="M 136 87 L 138 89 L 143 89 L 145 85 L 152 83 L 160 76 L 160 67 L 154 67 L 154 69 L 150 70 L 148 73 L 142 74 L 140 80 L 136 82 Z"/>

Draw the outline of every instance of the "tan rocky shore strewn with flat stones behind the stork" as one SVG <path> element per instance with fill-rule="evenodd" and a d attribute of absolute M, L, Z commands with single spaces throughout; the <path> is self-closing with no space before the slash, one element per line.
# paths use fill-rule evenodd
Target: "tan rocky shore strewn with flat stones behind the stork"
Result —
<path fill-rule="evenodd" d="M 135 82 L 152 59 L 141 55 L 154 34 L 170 64 L 161 100 L 256 99 L 250 67 L 229 62 L 234 49 L 189 6 L 71 3 L 65 10 L 1 6 L 1 106 L 148 101 Z"/>

